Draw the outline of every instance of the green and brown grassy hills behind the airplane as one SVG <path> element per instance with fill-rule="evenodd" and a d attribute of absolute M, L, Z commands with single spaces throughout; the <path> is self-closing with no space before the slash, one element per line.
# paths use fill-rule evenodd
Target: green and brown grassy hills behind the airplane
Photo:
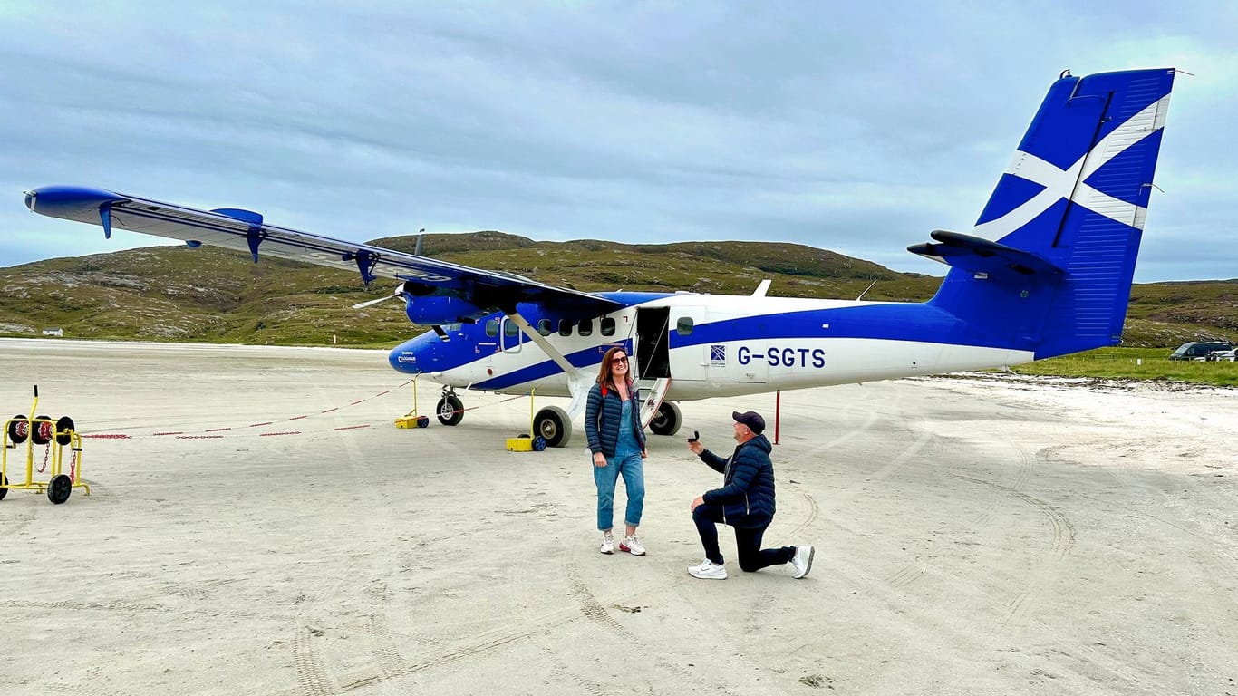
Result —
<path fill-rule="evenodd" d="M 416 238 L 375 244 L 412 251 Z M 427 234 L 427 255 L 501 269 L 578 290 L 692 290 L 921 301 L 940 277 L 900 274 L 799 244 L 534 241 L 498 232 Z M 945 270 L 945 268 L 942 269 Z M 875 284 L 874 284 L 875 281 Z M 399 302 L 352 305 L 390 292 L 337 271 L 217 248 L 152 246 L 0 269 L 0 336 L 256 344 L 392 346 L 420 331 Z M 1238 338 L 1238 280 L 1136 285 L 1125 346 L 1171 348 L 1200 338 Z"/>

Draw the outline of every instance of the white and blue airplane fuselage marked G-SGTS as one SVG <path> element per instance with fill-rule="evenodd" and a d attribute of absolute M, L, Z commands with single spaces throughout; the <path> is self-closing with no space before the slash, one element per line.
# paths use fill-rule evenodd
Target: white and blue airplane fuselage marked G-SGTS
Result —
<path fill-rule="evenodd" d="M 597 369 L 623 346 L 638 378 L 671 378 L 669 400 L 756 394 L 1013 365 L 1034 359 L 938 308 L 903 302 L 698 294 L 599 294 L 624 308 L 560 321 L 519 307 L 576 368 Z M 571 395 L 568 379 L 509 317 L 427 332 L 390 354 L 391 367 L 456 388 Z M 959 343 L 968 337 L 968 343 Z"/>

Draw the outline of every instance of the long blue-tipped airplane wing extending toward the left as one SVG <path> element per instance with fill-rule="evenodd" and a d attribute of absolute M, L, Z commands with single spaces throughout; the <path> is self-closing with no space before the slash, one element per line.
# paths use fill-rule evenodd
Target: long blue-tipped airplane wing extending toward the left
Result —
<path fill-rule="evenodd" d="M 495 310 L 514 312 L 516 303 L 532 302 L 563 315 L 597 316 L 620 303 L 566 287 L 557 287 L 504 271 L 490 271 L 439 261 L 416 254 L 358 244 L 266 224 L 260 213 L 238 208 L 199 211 L 126 196 L 100 188 L 45 186 L 26 192 L 26 207 L 36 213 L 157 237 L 181 239 L 189 246 L 209 244 L 259 253 L 319 266 L 355 270 L 368 285 L 376 277 L 405 281 L 410 296 L 438 296 L 464 301 L 477 315 Z M 465 312 L 467 313 L 467 312 Z"/>

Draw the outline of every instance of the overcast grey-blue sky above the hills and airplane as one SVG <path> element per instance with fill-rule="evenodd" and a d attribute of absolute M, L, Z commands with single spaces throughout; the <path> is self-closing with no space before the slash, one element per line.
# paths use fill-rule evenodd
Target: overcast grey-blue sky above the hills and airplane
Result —
<path fill-rule="evenodd" d="M 1238 277 L 1238 2 L 180 5 L 0 4 L 0 266 L 161 241 L 22 204 L 72 183 L 943 275 L 906 246 L 972 228 L 1062 69 L 1176 67 L 1135 280 Z"/>

